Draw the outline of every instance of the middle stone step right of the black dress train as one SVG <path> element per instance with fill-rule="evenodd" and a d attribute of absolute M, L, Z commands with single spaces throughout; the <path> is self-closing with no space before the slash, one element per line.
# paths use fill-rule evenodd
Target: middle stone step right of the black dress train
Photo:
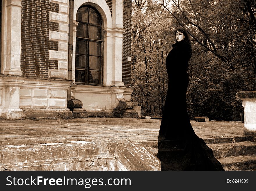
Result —
<path fill-rule="evenodd" d="M 213 154 L 216 158 L 223 158 L 227 156 L 236 156 L 236 155 L 256 154 L 255 141 L 243 141 L 243 142 L 207 144 L 207 145 L 212 149 Z"/>

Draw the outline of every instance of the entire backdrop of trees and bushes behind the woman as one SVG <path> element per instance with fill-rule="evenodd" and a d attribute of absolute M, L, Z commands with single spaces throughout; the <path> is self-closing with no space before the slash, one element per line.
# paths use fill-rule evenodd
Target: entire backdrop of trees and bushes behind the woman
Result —
<path fill-rule="evenodd" d="M 158 3 L 156 3 L 158 2 Z M 167 90 L 165 57 L 176 27 L 188 29 L 193 56 L 188 73 L 191 119 L 243 120 L 238 91 L 255 90 L 254 0 L 135 0 L 133 3 L 133 101 L 143 115 L 160 115 Z"/>

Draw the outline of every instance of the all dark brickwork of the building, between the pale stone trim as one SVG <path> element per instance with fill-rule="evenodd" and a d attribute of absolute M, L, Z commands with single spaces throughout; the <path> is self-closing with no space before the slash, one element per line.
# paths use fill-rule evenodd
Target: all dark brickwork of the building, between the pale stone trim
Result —
<path fill-rule="evenodd" d="M 106 0 L 112 14 L 112 0 Z M 58 12 L 58 4 L 49 0 L 22 0 L 21 69 L 24 76 L 48 77 L 48 69 L 58 69 L 57 60 L 49 60 L 49 50 L 58 50 L 58 42 L 49 40 L 49 30 L 58 31 L 58 23 L 49 21 L 49 12 Z M 122 81 L 130 85 L 131 0 L 123 1 Z"/>

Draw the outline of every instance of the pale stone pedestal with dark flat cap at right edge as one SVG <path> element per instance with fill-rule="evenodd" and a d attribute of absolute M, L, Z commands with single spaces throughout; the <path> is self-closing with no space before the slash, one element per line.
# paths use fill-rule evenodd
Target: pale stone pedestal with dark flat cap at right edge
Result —
<path fill-rule="evenodd" d="M 256 91 L 237 92 L 236 97 L 243 101 L 243 133 L 256 135 Z"/>

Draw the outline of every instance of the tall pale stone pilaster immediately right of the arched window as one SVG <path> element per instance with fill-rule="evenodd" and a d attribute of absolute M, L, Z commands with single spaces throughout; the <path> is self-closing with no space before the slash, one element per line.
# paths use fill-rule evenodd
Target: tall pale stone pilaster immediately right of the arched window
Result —
<path fill-rule="evenodd" d="M 113 62 L 111 86 L 124 86 L 122 82 L 122 55 L 123 55 L 123 2 L 122 0 L 112 1 L 113 17 Z"/>

